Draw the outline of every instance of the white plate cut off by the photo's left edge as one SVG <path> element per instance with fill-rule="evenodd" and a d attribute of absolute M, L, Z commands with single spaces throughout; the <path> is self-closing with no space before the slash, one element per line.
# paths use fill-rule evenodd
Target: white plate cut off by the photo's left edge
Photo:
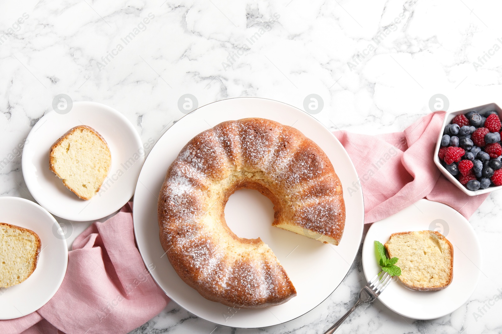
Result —
<path fill-rule="evenodd" d="M 0 319 L 15 319 L 36 311 L 56 293 L 66 273 L 68 248 L 64 236 L 58 233 L 56 219 L 27 199 L 0 197 L 0 222 L 30 229 L 42 243 L 31 276 L 18 285 L 0 288 Z"/>

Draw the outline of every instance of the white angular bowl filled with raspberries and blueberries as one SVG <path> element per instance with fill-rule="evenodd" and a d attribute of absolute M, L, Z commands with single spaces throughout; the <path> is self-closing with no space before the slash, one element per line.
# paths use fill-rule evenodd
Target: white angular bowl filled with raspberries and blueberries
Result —
<path fill-rule="evenodd" d="M 469 196 L 502 189 L 502 109 L 495 103 L 446 113 L 434 162 Z"/>

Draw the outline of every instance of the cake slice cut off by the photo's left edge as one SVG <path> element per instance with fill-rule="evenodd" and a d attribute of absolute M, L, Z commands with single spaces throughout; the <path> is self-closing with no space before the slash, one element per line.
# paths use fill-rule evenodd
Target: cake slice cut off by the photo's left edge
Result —
<path fill-rule="evenodd" d="M 37 267 L 40 247 L 40 238 L 32 230 L 0 223 L 0 287 L 30 277 Z"/>

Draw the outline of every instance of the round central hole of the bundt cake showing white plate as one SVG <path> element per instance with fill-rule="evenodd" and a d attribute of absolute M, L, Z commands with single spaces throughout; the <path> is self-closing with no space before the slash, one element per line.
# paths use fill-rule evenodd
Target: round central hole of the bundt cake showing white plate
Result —
<path fill-rule="evenodd" d="M 264 238 L 274 221 L 274 204 L 258 190 L 239 189 L 225 206 L 228 227 L 240 238 Z"/>

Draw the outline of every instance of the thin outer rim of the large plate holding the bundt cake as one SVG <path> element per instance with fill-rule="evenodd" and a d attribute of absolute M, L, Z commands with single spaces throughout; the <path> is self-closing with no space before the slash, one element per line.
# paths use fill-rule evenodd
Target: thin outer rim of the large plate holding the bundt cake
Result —
<path fill-rule="evenodd" d="M 304 114 L 306 114 L 306 115 L 310 116 L 310 117 L 311 117 L 311 118 L 313 118 L 313 119 L 314 119 L 314 120 L 315 120 L 315 121 L 316 121 L 319 125 L 321 125 L 324 129 L 326 129 L 326 130 L 327 130 L 327 131 L 331 134 L 332 138 L 340 144 L 341 148 L 343 149 L 344 154 L 346 155 L 346 157 L 347 157 L 347 159 L 348 159 L 348 162 L 350 163 L 350 166 L 352 167 L 352 170 L 353 170 L 354 174 L 356 175 L 357 179 L 359 178 L 359 177 L 358 177 L 358 174 L 357 174 L 357 171 L 356 171 L 356 169 L 355 169 L 355 166 L 354 166 L 354 164 L 353 164 L 353 162 L 352 162 L 352 159 L 351 159 L 351 158 L 350 158 L 350 156 L 348 155 L 348 153 L 347 153 L 347 151 L 345 150 L 345 148 L 343 147 L 343 145 L 341 145 L 341 143 L 339 142 L 339 140 L 336 138 L 336 136 L 335 136 L 335 135 L 331 132 L 331 130 L 330 130 L 328 127 L 326 127 L 323 123 L 321 123 L 319 120 L 317 120 L 317 119 L 316 119 L 313 115 L 311 115 L 311 114 L 309 114 L 309 113 L 307 113 L 307 112 L 305 112 L 305 111 L 303 111 L 303 110 L 301 110 L 301 109 L 299 109 L 299 108 L 297 108 L 297 107 L 295 107 L 295 106 L 293 106 L 293 105 L 290 105 L 290 104 L 285 103 L 285 102 L 277 101 L 277 100 L 274 100 L 274 99 L 261 98 L 261 97 L 235 97 L 235 98 L 228 98 L 228 99 L 223 99 L 223 100 L 214 101 L 214 102 L 208 103 L 208 104 L 206 104 L 206 105 L 200 106 L 200 107 L 198 107 L 197 109 L 194 109 L 193 111 L 191 111 L 190 113 L 188 113 L 188 114 L 186 114 L 186 115 L 182 116 L 180 119 L 178 119 L 178 121 L 176 121 L 176 122 L 175 122 L 175 123 L 173 123 L 173 124 L 172 124 L 169 128 L 167 128 L 167 129 L 166 129 L 166 131 L 165 131 L 165 132 L 161 135 L 161 137 L 159 137 L 159 139 L 156 141 L 156 143 L 155 143 L 155 144 L 157 144 L 157 142 L 159 142 L 159 141 L 160 141 L 160 139 L 162 138 L 162 136 L 164 136 L 164 134 L 166 134 L 166 133 L 167 133 L 167 131 L 169 131 L 169 130 L 171 129 L 171 127 L 172 127 L 174 124 L 178 123 L 181 119 L 185 118 L 186 116 L 188 116 L 188 115 L 190 115 L 190 114 L 192 114 L 192 113 L 196 112 L 197 110 L 201 109 L 202 107 L 205 107 L 205 106 L 208 106 L 208 105 L 211 105 L 211 104 L 214 104 L 214 103 L 218 103 L 218 102 L 221 102 L 221 101 L 226 101 L 226 100 L 234 100 L 234 99 L 239 99 L 239 100 L 245 100 L 245 99 L 249 99 L 249 100 L 251 100 L 251 99 L 259 99 L 259 100 L 267 100 L 267 101 L 271 101 L 271 102 L 276 102 L 276 103 L 280 103 L 280 104 L 287 105 L 287 106 L 289 106 L 289 107 L 291 107 L 291 108 L 294 108 L 294 109 L 296 109 L 296 110 L 298 110 L 298 111 L 300 111 L 300 112 L 302 112 L 302 113 L 304 113 Z M 154 145 L 154 147 L 155 147 L 155 145 Z M 152 148 L 152 150 L 151 150 L 151 151 L 153 151 L 153 148 Z M 144 162 L 143 162 L 143 166 L 147 163 L 147 159 L 148 159 L 148 156 L 145 158 L 145 160 L 144 160 Z M 143 170 L 143 166 L 142 166 L 141 170 Z M 138 183 L 139 183 L 140 177 L 141 177 L 141 171 L 140 171 L 140 174 L 138 175 L 138 179 L 137 179 L 137 183 L 136 183 L 136 188 L 138 188 Z M 136 188 L 135 188 L 135 193 L 136 193 Z M 307 314 L 308 312 L 310 312 L 310 311 L 311 311 L 311 310 L 313 310 L 314 308 L 318 307 L 320 304 L 322 304 L 322 303 L 323 303 L 326 299 L 328 299 L 328 298 L 329 298 L 329 297 L 333 294 L 333 292 L 334 292 L 334 291 L 338 288 L 338 286 L 340 286 L 340 284 L 341 284 L 341 283 L 345 280 L 345 278 L 347 277 L 347 275 L 350 273 L 350 267 L 351 267 L 351 265 L 353 264 L 353 262 L 355 261 L 355 258 L 357 257 L 357 253 L 358 253 L 359 249 L 361 248 L 361 243 L 362 243 L 362 234 L 363 234 L 363 230 L 364 230 L 364 214 L 365 214 L 365 212 L 364 212 L 364 197 L 363 197 L 363 195 L 362 195 L 362 194 L 363 194 L 363 190 L 362 190 L 362 188 L 360 188 L 360 189 L 358 190 L 358 192 L 359 192 L 359 191 L 360 191 L 360 201 L 361 201 L 361 204 L 362 204 L 362 212 L 361 212 L 361 219 L 362 219 L 362 220 L 361 220 L 361 229 L 360 229 L 360 234 L 359 234 L 359 243 L 358 243 L 358 248 L 357 248 L 357 250 L 356 250 L 356 252 L 355 252 L 355 254 L 354 254 L 354 258 L 353 258 L 353 260 L 352 260 L 352 263 L 349 265 L 349 268 L 347 269 L 347 272 L 346 272 L 346 273 L 345 273 L 345 275 L 343 276 L 343 279 L 342 279 L 342 280 L 341 280 L 341 281 L 340 281 L 340 282 L 339 282 L 339 283 L 338 283 L 338 284 L 334 287 L 333 291 L 331 291 L 331 292 L 330 292 L 330 293 L 329 293 L 329 294 L 328 294 L 328 295 L 327 295 L 327 296 L 326 296 L 323 300 L 321 300 L 321 301 L 320 301 L 320 302 L 319 302 L 316 306 L 314 306 L 314 307 L 313 307 L 313 308 L 311 308 L 310 310 L 307 310 L 307 311 L 305 311 L 305 313 L 302 313 L 302 314 L 300 314 L 300 315 L 298 315 L 298 316 L 296 316 L 296 317 L 294 317 L 294 318 L 288 319 L 288 320 L 286 320 L 286 321 L 280 321 L 280 322 L 278 322 L 278 323 L 276 323 L 276 324 L 270 324 L 270 325 L 266 325 L 266 326 L 259 326 L 259 327 L 256 327 L 256 326 L 254 326 L 254 327 L 243 327 L 243 326 L 235 326 L 235 325 L 232 325 L 232 326 L 231 326 L 232 328 L 242 328 L 242 329 L 267 328 L 267 327 L 271 327 L 271 326 L 275 326 L 275 325 L 283 324 L 283 323 L 286 323 L 286 322 L 288 322 L 288 321 L 292 321 L 292 320 L 294 320 L 294 319 L 297 319 L 297 318 L 299 318 L 299 317 L 301 317 L 301 316 L 303 316 L 303 315 Z M 137 220 L 135 219 L 135 210 L 134 210 L 135 203 L 136 203 L 136 201 L 133 201 L 133 225 L 134 225 L 134 236 L 135 236 L 135 240 L 136 240 L 136 243 L 137 243 L 137 246 L 138 246 L 138 250 L 139 250 L 140 255 L 141 255 L 142 259 L 143 259 L 143 262 L 144 262 L 144 263 L 145 263 L 145 265 L 147 266 L 147 265 L 148 265 L 148 264 L 147 264 L 147 261 L 146 261 L 146 259 L 145 259 L 145 257 L 144 257 L 143 252 L 142 252 L 142 251 L 141 251 L 141 249 L 140 249 L 140 244 L 139 244 L 139 242 L 138 242 L 137 227 L 136 227 L 136 221 L 137 221 Z M 159 282 L 157 281 L 157 279 L 155 278 L 155 276 L 154 276 L 154 275 L 151 275 L 151 277 L 152 277 L 152 279 L 154 280 L 154 282 L 157 284 L 157 286 L 159 286 L 159 288 L 160 288 L 160 289 L 161 289 L 161 290 L 162 290 L 162 291 L 163 291 L 163 292 L 164 292 L 164 293 L 165 293 L 165 294 L 166 294 L 166 295 L 167 295 L 167 296 L 168 296 L 168 297 L 169 297 L 172 301 L 174 301 L 174 302 L 175 302 L 176 304 L 178 304 L 180 307 L 182 307 L 183 309 L 185 309 L 187 312 L 189 312 L 189 313 L 191 313 L 191 314 L 193 314 L 193 315 L 195 315 L 195 316 L 197 316 L 197 317 L 199 317 L 199 318 L 202 318 L 202 319 L 204 319 L 205 321 L 208 321 L 208 322 L 210 322 L 210 323 L 213 323 L 213 324 L 215 324 L 215 325 L 228 327 L 228 326 L 226 326 L 226 325 L 224 325 L 224 324 L 221 324 L 221 323 L 219 323 L 219 322 L 213 322 L 213 321 L 211 321 L 211 320 L 209 320 L 209 319 L 206 319 L 206 318 L 204 318 L 204 317 L 202 317 L 202 316 L 199 316 L 199 315 L 197 315 L 197 314 L 195 314 L 195 313 L 191 312 L 190 310 L 186 309 L 186 308 L 185 308 L 185 307 L 183 307 L 181 304 L 179 304 L 179 303 L 178 303 L 175 299 L 173 299 L 173 298 L 172 298 L 172 296 L 171 296 L 171 295 L 170 295 L 167 291 L 165 291 L 165 290 L 162 288 L 162 286 L 159 284 Z"/>

